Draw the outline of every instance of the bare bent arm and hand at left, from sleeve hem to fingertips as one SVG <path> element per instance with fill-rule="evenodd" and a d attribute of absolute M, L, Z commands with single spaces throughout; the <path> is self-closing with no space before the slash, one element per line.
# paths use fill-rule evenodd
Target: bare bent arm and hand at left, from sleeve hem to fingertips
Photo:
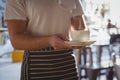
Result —
<path fill-rule="evenodd" d="M 53 47 L 56 49 L 69 48 L 64 42 L 65 37 L 60 34 L 50 36 L 34 36 L 26 33 L 27 22 L 24 20 L 7 20 L 10 40 L 15 49 L 39 50 Z"/>

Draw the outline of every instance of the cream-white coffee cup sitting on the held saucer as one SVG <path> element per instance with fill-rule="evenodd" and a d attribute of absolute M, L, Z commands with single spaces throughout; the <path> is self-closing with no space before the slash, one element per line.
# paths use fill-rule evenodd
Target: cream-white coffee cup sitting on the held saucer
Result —
<path fill-rule="evenodd" d="M 85 42 L 90 39 L 90 32 L 88 30 L 71 30 L 70 41 Z"/>

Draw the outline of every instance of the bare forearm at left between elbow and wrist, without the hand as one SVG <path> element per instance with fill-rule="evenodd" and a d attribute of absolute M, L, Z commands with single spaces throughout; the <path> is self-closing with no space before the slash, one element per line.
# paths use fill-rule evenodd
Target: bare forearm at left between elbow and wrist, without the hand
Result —
<path fill-rule="evenodd" d="M 12 45 L 19 50 L 39 50 L 48 47 L 48 37 L 17 34 L 10 37 Z"/>

